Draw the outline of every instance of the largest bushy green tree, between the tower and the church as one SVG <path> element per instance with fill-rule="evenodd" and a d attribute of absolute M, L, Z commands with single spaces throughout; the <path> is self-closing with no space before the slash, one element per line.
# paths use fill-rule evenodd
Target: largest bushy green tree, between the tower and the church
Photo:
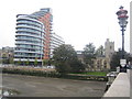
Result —
<path fill-rule="evenodd" d="M 53 52 L 56 70 L 61 74 L 77 73 L 85 69 L 72 45 L 61 45 Z"/>

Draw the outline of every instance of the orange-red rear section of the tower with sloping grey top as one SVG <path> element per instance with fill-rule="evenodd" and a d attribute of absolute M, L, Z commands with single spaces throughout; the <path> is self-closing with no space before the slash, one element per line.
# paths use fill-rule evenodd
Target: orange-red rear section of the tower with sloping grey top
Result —
<path fill-rule="evenodd" d="M 53 21 L 51 9 L 44 8 L 44 9 L 41 9 L 41 11 L 34 12 L 31 15 L 36 18 L 44 25 L 44 57 L 43 58 L 48 59 L 50 58 L 50 41 L 51 41 L 51 33 L 52 33 L 52 21 Z"/>

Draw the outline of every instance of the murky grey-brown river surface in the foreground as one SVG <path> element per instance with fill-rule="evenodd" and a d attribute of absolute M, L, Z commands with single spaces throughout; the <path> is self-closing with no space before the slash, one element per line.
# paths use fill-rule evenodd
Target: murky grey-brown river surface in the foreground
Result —
<path fill-rule="evenodd" d="M 20 97 L 102 97 L 106 82 L 3 74 L 2 86 Z"/>

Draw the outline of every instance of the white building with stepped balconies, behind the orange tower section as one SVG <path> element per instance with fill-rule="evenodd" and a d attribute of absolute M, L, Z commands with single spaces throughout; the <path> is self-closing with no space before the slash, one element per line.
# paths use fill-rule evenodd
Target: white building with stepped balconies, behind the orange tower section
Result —
<path fill-rule="evenodd" d="M 63 37 L 55 33 L 51 33 L 51 57 L 53 57 L 54 50 L 62 44 L 65 44 Z"/>

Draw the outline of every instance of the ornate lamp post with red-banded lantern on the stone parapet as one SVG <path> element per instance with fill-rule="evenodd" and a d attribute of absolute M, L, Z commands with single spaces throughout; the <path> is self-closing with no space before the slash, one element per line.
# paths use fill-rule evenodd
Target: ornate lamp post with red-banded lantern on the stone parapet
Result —
<path fill-rule="evenodd" d="M 128 24 L 128 11 L 123 10 L 123 7 L 121 6 L 119 8 L 120 10 L 117 12 L 118 15 L 118 20 L 119 20 L 119 25 L 121 26 L 121 32 L 122 32 L 122 55 L 121 55 L 121 59 L 120 59 L 120 64 L 121 64 L 121 68 L 120 72 L 125 73 L 127 72 L 127 61 L 124 59 L 124 31 Z"/>

